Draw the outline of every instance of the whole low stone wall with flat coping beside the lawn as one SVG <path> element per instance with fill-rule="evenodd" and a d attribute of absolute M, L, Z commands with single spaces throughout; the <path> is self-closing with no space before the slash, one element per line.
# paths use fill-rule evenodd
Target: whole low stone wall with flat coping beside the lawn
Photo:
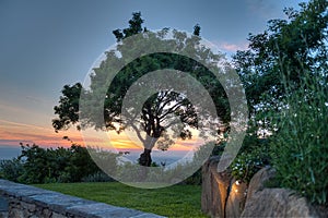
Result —
<path fill-rule="evenodd" d="M 98 218 L 161 216 L 82 199 L 30 185 L 0 180 L 0 218 Z"/>

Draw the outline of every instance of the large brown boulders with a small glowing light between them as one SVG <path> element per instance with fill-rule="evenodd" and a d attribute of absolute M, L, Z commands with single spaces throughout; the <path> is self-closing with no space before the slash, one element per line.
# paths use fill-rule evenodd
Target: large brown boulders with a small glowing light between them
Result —
<path fill-rule="evenodd" d="M 236 182 L 229 172 L 218 172 L 220 157 L 202 167 L 202 211 L 211 217 L 328 217 L 328 208 L 311 205 L 306 198 L 286 189 L 268 189 L 274 177 L 266 167 L 249 185 Z"/>

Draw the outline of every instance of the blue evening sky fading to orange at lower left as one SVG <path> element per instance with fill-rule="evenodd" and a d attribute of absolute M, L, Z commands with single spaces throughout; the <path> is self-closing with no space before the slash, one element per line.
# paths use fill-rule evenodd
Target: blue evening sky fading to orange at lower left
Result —
<path fill-rule="evenodd" d="M 68 145 L 63 135 L 82 141 L 74 129 L 55 133 L 52 108 L 63 85 L 84 81 L 97 57 L 115 44 L 112 31 L 127 27 L 132 12 L 141 11 L 149 29 L 192 32 L 198 23 L 202 37 L 231 55 L 247 48 L 248 33 L 260 33 L 268 20 L 284 17 L 284 7 L 300 2 L 0 0 L 0 153 L 20 142 Z M 130 146 L 124 137 L 112 141 Z"/>

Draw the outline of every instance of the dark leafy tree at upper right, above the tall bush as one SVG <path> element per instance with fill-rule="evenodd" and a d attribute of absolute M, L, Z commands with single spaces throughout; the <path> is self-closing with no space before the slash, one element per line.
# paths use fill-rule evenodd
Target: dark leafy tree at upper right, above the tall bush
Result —
<path fill-rule="evenodd" d="M 317 82 L 327 84 L 327 5 L 326 0 L 312 0 L 300 3 L 298 11 L 285 8 L 286 20 L 271 20 L 263 33 L 249 34 L 249 49 L 233 57 L 250 116 L 269 108 L 280 110 L 289 93 L 301 88 L 305 75 L 320 74 Z M 267 124 L 262 128 L 270 128 Z"/>

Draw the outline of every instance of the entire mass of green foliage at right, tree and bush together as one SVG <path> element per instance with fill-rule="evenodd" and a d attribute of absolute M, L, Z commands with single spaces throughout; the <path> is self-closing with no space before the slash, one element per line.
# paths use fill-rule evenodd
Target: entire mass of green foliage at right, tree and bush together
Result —
<path fill-rule="evenodd" d="M 250 136 L 271 134 L 265 137 L 277 183 L 319 204 L 327 203 L 327 7 L 326 0 L 311 0 L 300 11 L 285 9 L 288 20 L 269 21 L 265 33 L 249 35 L 249 49 L 234 57 L 251 111 Z M 268 155 L 260 150 L 257 160 Z M 236 164 L 245 169 L 257 153 L 242 152 Z"/>

